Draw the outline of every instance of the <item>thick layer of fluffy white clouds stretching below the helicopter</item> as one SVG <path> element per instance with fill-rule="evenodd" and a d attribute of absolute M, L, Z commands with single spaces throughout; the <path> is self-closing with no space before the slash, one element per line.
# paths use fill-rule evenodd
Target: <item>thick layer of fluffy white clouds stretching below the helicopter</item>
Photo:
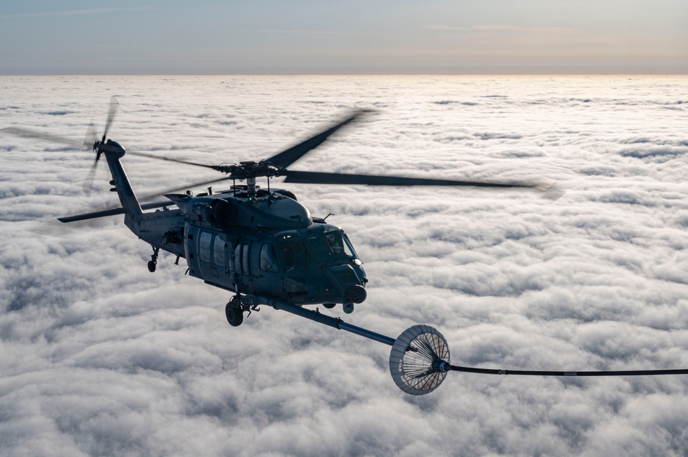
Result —
<path fill-rule="evenodd" d="M 553 179 L 561 192 L 306 186 L 365 265 L 346 322 L 438 328 L 455 365 L 688 368 L 685 76 L 1 76 L 0 129 L 80 140 L 119 112 L 128 151 L 257 160 L 376 113 L 297 170 Z M 80 148 L 0 137 L 0 455 L 648 456 L 688 454 L 688 377 L 451 372 L 412 397 L 389 346 L 262 307 L 184 274 L 121 216 Z M 138 194 L 211 170 L 125 155 Z M 259 182 L 259 184 L 261 184 Z M 217 189 L 215 189 L 217 190 Z M 557 198 L 558 197 L 558 198 Z"/>

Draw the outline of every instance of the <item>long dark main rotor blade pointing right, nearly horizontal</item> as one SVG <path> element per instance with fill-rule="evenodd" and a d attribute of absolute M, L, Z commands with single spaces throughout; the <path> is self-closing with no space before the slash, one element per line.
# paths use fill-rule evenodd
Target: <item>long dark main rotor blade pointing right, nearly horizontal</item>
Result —
<path fill-rule="evenodd" d="M 347 184 L 365 186 L 477 186 L 496 188 L 539 188 L 529 183 L 495 183 L 487 181 L 452 181 L 450 179 L 407 178 L 398 176 L 345 175 L 312 171 L 284 170 L 286 183 Z"/>

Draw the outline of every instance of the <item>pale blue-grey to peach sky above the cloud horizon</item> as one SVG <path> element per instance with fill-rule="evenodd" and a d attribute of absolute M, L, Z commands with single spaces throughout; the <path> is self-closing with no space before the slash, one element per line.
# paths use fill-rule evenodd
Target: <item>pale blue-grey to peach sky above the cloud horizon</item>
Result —
<path fill-rule="evenodd" d="M 0 74 L 685 74 L 683 0 L 51 1 Z"/>

